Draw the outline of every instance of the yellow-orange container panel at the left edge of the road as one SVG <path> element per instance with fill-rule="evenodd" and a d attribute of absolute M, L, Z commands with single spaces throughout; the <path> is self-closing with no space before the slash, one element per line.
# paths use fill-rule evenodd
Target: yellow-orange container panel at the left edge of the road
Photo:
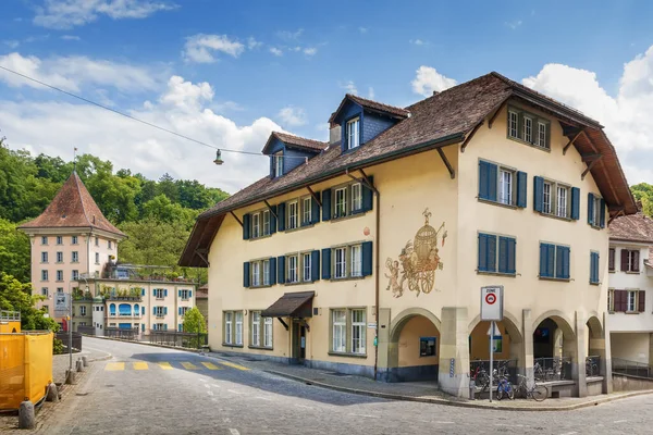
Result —
<path fill-rule="evenodd" d="M 0 334 L 0 410 L 41 400 L 52 381 L 52 333 Z"/>

